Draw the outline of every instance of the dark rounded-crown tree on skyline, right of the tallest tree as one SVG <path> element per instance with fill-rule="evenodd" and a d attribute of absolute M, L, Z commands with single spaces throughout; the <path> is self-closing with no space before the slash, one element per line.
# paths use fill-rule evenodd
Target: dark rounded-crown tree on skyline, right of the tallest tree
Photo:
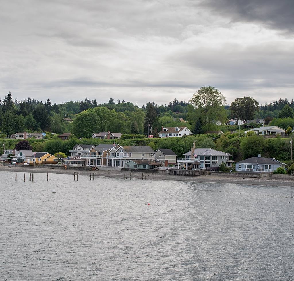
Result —
<path fill-rule="evenodd" d="M 237 118 L 247 123 L 259 111 L 259 103 L 253 97 L 238 97 L 231 103 L 231 118 Z"/>

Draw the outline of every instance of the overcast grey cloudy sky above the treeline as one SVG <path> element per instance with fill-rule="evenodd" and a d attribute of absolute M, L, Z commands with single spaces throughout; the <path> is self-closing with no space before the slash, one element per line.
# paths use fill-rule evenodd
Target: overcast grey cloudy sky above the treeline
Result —
<path fill-rule="evenodd" d="M 9 0 L 0 97 L 158 105 L 214 86 L 230 104 L 293 97 L 294 1 Z"/>

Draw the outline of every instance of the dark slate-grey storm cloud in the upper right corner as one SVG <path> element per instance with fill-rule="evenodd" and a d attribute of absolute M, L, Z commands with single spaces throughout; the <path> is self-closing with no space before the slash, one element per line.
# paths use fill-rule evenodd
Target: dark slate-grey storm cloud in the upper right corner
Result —
<path fill-rule="evenodd" d="M 234 22 L 260 22 L 273 29 L 294 31 L 292 0 L 208 0 L 201 5 L 225 14 Z"/>

